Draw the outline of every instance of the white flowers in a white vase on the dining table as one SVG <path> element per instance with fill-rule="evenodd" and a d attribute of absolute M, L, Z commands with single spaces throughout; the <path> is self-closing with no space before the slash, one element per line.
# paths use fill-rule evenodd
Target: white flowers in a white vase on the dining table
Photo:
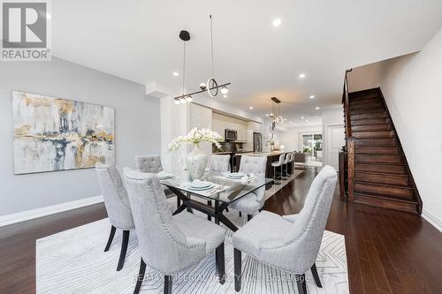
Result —
<path fill-rule="evenodd" d="M 200 179 L 207 166 L 207 155 L 200 150 L 200 143 L 210 142 L 220 148 L 221 145 L 218 141 L 222 139 L 217 132 L 212 132 L 210 129 L 194 128 L 186 136 L 173 139 L 167 150 L 169 152 L 177 151 L 182 143 L 194 144 L 194 150 L 186 156 L 186 165 L 191 179 Z"/>

